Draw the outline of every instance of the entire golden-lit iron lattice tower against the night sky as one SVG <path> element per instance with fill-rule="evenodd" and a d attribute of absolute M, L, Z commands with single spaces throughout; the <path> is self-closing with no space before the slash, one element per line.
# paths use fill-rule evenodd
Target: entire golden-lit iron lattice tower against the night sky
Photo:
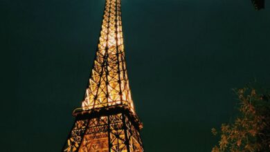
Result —
<path fill-rule="evenodd" d="M 106 0 L 96 57 L 82 107 L 62 151 L 142 152 L 127 78 L 120 0 Z"/>

